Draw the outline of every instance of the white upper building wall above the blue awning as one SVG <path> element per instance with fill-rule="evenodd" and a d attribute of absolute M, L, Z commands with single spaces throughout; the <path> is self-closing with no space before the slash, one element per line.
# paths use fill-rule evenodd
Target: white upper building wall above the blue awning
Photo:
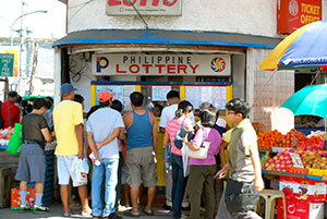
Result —
<path fill-rule="evenodd" d="M 69 33 L 90 28 L 144 28 L 136 16 L 108 16 L 107 2 L 69 0 Z M 144 20 L 149 28 L 277 36 L 277 0 L 182 0 L 182 16 L 144 16 Z"/>

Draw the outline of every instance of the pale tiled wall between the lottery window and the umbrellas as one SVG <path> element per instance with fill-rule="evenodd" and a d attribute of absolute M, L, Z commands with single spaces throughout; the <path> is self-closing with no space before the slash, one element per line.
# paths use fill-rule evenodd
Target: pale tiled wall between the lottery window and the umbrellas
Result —
<path fill-rule="evenodd" d="M 246 100 L 252 106 L 253 122 L 263 123 L 267 131 L 287 132 L 294 126 L 294 118 L 291 111 L 279 107 L 294 93 L 294 71 L 258 70 L 269 52 L 268 49 L 247 49 Z"/>

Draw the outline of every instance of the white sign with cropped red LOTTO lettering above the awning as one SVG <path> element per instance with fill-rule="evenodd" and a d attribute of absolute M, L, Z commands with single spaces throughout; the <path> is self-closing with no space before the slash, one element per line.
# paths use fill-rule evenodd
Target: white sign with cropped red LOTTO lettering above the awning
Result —
<path fill-rule="evenodd" d="M 107 0 L 108 15 L 182 15 L 182 0 Z M 136 9 L 136 10 L 135 10 Z"/>

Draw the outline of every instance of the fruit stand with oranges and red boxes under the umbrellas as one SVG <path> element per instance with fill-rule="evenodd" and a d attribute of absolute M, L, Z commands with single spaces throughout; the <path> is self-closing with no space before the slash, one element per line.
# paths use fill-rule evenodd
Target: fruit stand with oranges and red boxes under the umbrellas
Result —
<path fill-rule="evenodd" d="M 278 181 L 278 188 L 286 195 L 287 218 L 324 218 L 327 188 L 327 150 L 325 133 L 308 136 L 291 130 L 258 134 L 258 147 L 265 179 Z M 267 183 L 269 184 L 269 183 Z M 283 218 L 281 200 L 278 219 Z"/>

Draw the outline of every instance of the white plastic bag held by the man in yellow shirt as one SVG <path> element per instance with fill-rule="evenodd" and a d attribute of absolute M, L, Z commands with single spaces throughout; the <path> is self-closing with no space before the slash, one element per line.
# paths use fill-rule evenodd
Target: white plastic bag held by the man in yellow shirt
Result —
<path fill-rule="evenodd" d="M 71 172 L 74 178 L 74 181 L 76 183 L 86 184 L 88 171 L 89 167 L 87 163 L 87 159 L 78 159 L 77 157 L 75 157 L 71 167 Z"/>

